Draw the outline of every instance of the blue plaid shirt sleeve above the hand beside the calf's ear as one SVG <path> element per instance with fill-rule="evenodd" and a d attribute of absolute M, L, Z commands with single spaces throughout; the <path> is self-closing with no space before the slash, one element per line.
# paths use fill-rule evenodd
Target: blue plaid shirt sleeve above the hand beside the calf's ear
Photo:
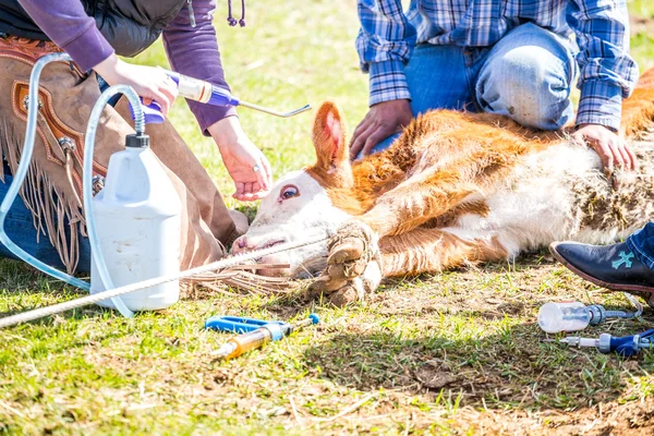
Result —
<path fill-rule="evenodd" d="M 356 51 L 361 70 L 370 73 L 370 106 L 411 99 L 404 65 L 415 46 L 415 27 L 401 0 L 359 0 L 361 29 Z"/>

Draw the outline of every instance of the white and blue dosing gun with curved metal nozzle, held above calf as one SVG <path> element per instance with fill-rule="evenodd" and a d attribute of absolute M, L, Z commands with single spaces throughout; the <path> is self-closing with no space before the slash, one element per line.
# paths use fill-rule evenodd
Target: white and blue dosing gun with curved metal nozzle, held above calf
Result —
<path fill-rule="evenodd" d="M 201 81 L 197 78 L 189 77 L 173 71 L 161 69 L 168 76 L 177 84 L 178 93 L 184 98 L 190 100 L 204 102 L 211 106 L 243 106 L 245 108 L 258 110 L 259 112 L 269 113 L 275 117 L 288 118 L 296 116 L 298 113 L 304 112 L 311 109 L 311 105 L 305 105 L 300 109 L 292 110 L 290 112 L 278 112 L 276 110 L 267 109 L 257 105 L 253 105 L 246 101 L 241 101 L 239 98 L 230 94 L 229 90 L 220 88 L 216 85 L 211 85 L 209 82 Z M 164 122 L 164 114 L 161 113 L 161 107 L 153 101 L 150 105 L 143 105 L 145 112 L 145 122 L 147 123 L 160 123 Z"/>

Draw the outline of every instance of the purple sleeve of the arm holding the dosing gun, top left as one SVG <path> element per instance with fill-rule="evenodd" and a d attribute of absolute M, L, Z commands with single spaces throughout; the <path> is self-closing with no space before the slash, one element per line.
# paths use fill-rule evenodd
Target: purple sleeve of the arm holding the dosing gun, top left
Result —
<path fill-rule="evenodd" d="M 19 3 L 82 71 L 93 69 L 113 53 L 80 0 L 19 0 Z"/>

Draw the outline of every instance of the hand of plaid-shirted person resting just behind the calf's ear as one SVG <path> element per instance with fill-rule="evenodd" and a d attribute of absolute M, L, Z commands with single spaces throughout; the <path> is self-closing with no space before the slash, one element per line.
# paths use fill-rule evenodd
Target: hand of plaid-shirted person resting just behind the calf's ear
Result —
<path fill-rule="evenodd" d="M 390 100 L 374 105 L 354 130 L 350 158 L 354 160 L 361 150 L 368 155 L 375 145 L 393 133 L 401 132 L 412 118 L 409 100 Z"/>

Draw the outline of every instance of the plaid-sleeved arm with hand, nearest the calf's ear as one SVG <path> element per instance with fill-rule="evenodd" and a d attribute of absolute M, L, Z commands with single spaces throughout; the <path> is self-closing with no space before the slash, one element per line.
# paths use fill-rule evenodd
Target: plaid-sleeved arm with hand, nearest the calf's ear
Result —
<path fill-rule="evenodd" d="M 361 29 L 356 51 L 362 71 L 370 73 L 371 110 L 352 135 L 352 158 L 361 150 L 367 154 L 411 121 L 404 65 L 416 40 L 401 0 L 359 0 L 358 8 Z"/>

